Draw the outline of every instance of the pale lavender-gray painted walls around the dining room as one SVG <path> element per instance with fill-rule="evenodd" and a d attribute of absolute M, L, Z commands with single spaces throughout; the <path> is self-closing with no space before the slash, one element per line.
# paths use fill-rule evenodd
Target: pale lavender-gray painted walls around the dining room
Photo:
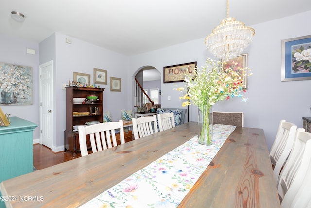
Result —
<path fill-rule="evenodd" d="M 256 30 L 253 43 L 246 48 L 248 66 L 253 75 L 248 77 L 248 102 L 232 99 L 217 103 L 213 109 L 222 111 L 243 111 L 245 126 L 264 129 L 268 147 L 276 136 L 281 119 L 294 122 L 302 127 L 302 117 L 311 116 L 311 80 L 281 82 L 281 40 L 311 34 L 311 27 L 302 19 L 310 19 L 311 11 L 276 19 L 257 25 L 250 25 Z M 204 26 L 204 25 L 202 25 Z M 135 56 L 121 55 L 96 45 L 55 33 L 40 43 L 12 38 L 0 34 L 0 61 L 33 67 L 33 105 L 1 106 L 5 113 L 18 116 L 39 124 L 39 64 L 54 60 L 55 95 L 57 95 L 57 132 L 54 138 L 55 150 L 63 148 L 65 130 L 65 91 L 62 84 L 73 79 L 73 72 L 91 75 L 93 68 L 108 71 L 108 85 L 104 91 L 104 111 L 110 110 L 113 120 L 121 119 L 120 110 L 134 109 L 133 84 L 136 73 L 145 66 L 153 66 L 163 73 L 164 66 L 197 61 L 204 64 L 207 57 L 213 56 L 204 45 L 204 38 L 174 45 Z M 208 35 L 208 34 L 207 34 Z M 72 44 L 65 43 L 71 38 Z M 37 54 L 26 54 L 26 48 L 35 49 Z M 41 57 L 42 53 L 42 57 Z M 39 60 L 40 54 L 40 60 Z M 110 92 L 109 77 L 122 79 L 122 91 Z M 173 90 L 182 83 L 163 83 L 161 76 L 161 106 L 181 107 L 178 97 L 180 92 Z M 168 100 L 171 96 L 171 100 Z M 190 121 L 197 120 L 197 109 L 190 106 Z M 39 128 L 34 132 L 34 141 L 39 139 Z"/>

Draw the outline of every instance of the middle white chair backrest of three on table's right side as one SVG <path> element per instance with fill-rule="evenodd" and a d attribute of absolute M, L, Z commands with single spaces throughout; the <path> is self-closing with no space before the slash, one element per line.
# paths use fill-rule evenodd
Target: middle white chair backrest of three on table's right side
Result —
<path fill-rule="evenodd" d="M 311 160 L 311 133 L 304 131 L 303 128 L 297 129 L 294 146 L 278 179 L 277 192 L 284 205 L 290 204 L 294 199 Z"/>

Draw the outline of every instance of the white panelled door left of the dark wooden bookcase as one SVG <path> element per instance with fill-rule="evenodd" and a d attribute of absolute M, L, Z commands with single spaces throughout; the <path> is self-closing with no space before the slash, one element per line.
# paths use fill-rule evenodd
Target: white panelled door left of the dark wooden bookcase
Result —
<path fill-rule="evenodd" d="M 53 61 L 40 68 L 40 144 L 53 145 Z"/>

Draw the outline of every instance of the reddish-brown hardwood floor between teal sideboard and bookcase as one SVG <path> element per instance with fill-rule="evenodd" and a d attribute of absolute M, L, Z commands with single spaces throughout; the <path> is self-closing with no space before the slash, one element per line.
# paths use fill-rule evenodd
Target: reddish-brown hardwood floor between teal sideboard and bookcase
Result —
<path fill-rule="evenodd" d="M 77 153 L 76 157 L 72 157 L 72 152 L 52 152 L 50 148 L 40 145 L 33 145 L 34 154 L 34 166 L 37 170 L 41 170 L 59 163 L 63 163 L 74 158 L 81 157 L 80 152 Z"/>

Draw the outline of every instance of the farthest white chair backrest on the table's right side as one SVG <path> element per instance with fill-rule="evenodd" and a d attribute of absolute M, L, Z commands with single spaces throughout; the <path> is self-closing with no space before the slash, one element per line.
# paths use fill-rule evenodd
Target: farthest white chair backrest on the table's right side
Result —
<path fill-rule="evenodd" d="M 285 120 L 280 121 L 276 138 L 270 151 L 270 160 L 274 167 L 273 174 L 276 182 L 284 162 L 292 150 L 296 130 L 297 126 L 294 123 L 286 122 Z"/>

